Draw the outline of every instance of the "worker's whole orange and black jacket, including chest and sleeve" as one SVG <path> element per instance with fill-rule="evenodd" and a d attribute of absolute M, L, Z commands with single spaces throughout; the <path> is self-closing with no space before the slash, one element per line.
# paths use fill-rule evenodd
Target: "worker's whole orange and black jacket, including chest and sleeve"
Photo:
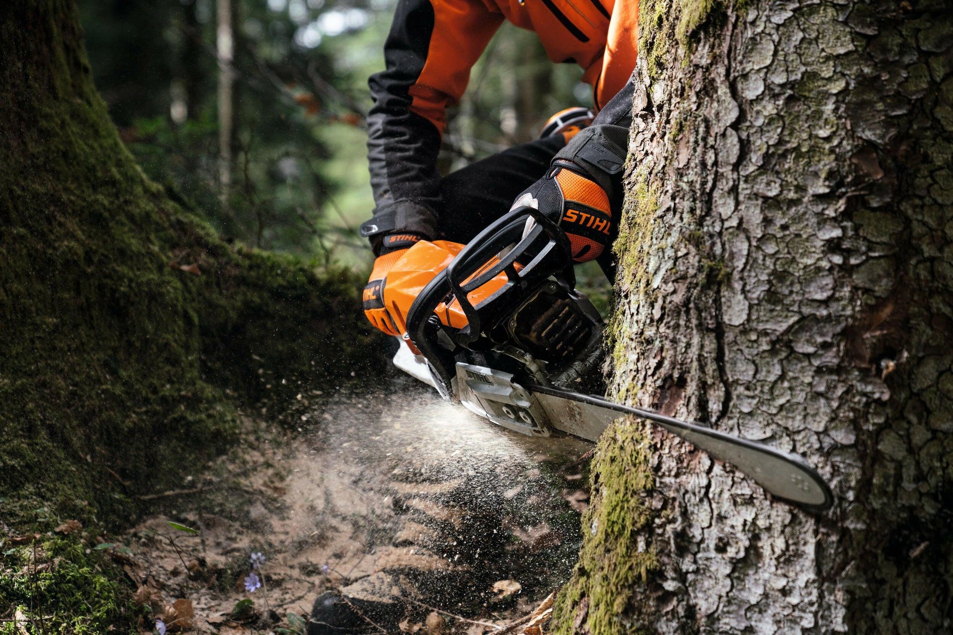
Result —
<path fill-rule="evenodd" d="M 368 159 L 374 218 L 361 226 L 375 250 L 394 232 L 437 237 L 436 156 L 446 109 L 503 20 L 537 32 L 549 58 L 575 62 L 604 107 L 628 82 L 638 53 L 638 0 L 399 0 L 384 46 L 387 69 L 370 80 Z M 631 102 L 630 102 L 631 103 Z"/>

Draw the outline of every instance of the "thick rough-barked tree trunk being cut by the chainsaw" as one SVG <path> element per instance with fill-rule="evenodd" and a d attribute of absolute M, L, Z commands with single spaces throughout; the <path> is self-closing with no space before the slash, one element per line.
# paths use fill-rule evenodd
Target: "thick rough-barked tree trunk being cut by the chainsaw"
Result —
<path fill-rule="evenodd" d="M 948 3 L 639 10 L 612 390 L 799 452 L 837 501 L 619 422 L 556 632 L 951 632 Z"/>

